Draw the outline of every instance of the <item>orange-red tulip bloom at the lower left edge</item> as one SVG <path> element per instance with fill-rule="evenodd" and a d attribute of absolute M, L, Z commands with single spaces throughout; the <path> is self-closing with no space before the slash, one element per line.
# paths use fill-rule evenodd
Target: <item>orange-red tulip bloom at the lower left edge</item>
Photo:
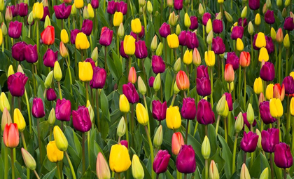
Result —
<path fill-rule="evenodd" d="M 6 124 L 3 132 L 3 142 L 6 147 L 15 148 L 20 142 L 20 136 L 18 134 L 18 124 Z"/>

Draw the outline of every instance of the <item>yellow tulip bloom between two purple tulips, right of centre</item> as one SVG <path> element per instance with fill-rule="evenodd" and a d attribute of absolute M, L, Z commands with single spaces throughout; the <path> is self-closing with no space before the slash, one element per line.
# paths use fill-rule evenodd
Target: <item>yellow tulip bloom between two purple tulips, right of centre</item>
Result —
<path fill-rule="evenodd" d="M 181 114 L 179 112 L 179 107 L 170 106 L 167 108 L 167 127 L 176 130 L 181 127 Z"/>

